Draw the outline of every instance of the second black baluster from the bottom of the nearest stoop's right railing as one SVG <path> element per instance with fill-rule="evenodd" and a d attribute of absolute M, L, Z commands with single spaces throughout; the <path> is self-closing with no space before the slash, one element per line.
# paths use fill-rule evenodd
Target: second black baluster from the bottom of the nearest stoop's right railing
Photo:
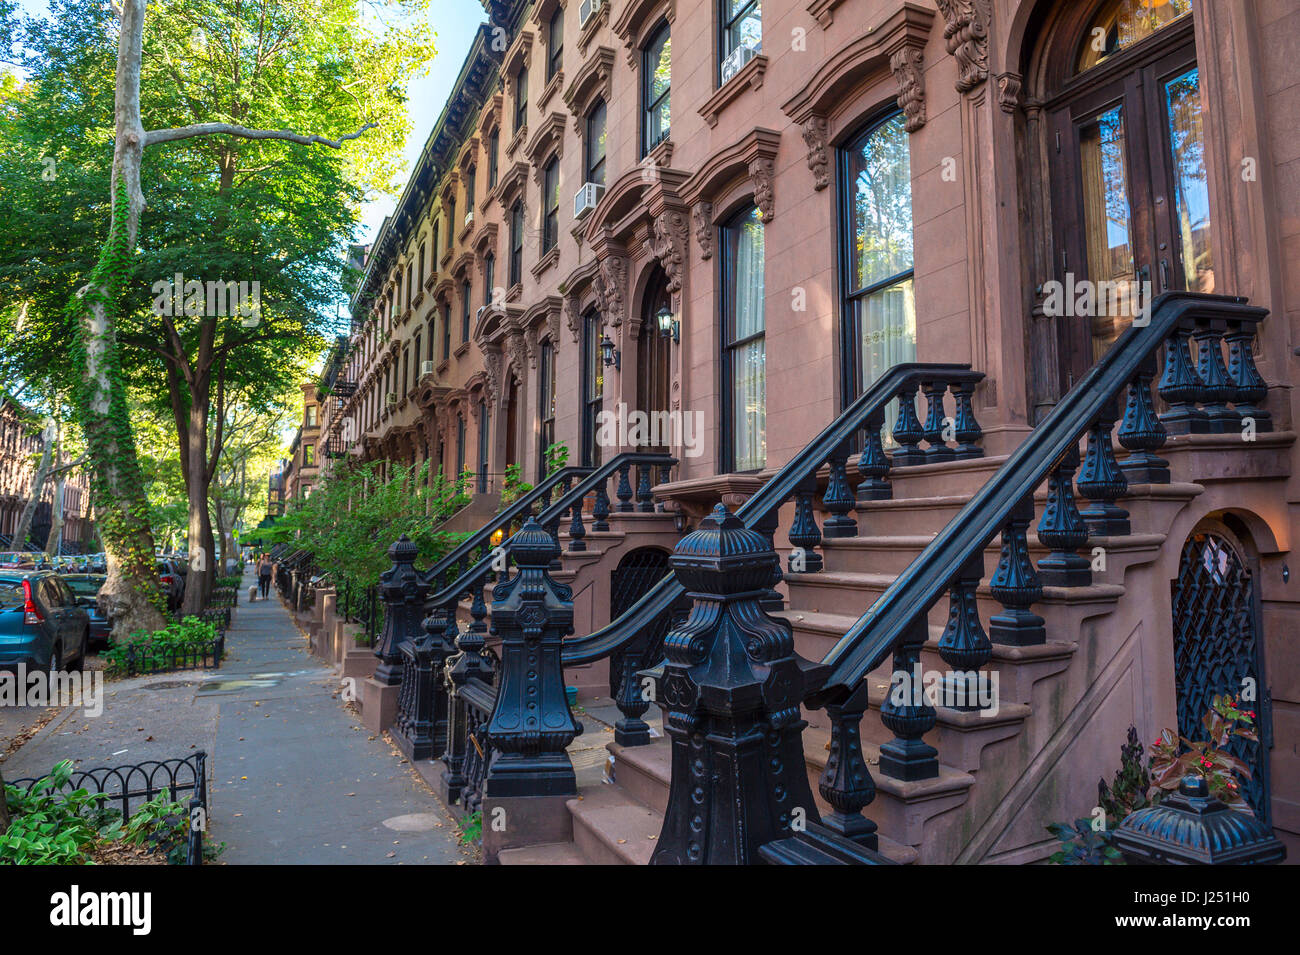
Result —
<path fill-rule="evenodd" d="M 939 776 L 939 750 L 924 737 L 935 728 L 935 708 L 926 700 L 920 648 L 930 637 L 922 613 L 896 646 L 889 695 L 880 704 L 880 722 L 894 738 L 880 747 L 880 772 L 894 780 L 932 780 Z"/>

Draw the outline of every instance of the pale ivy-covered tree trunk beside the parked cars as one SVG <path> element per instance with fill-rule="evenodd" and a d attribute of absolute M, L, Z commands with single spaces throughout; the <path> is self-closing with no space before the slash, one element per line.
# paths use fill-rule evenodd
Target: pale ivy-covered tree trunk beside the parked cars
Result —
<path fill-rule="evenodd" d="M 112 214 L 113 223 L 95 272 L 78 290 L 77 342 L 83 376 L 77 409 L 87 439 L 87 457 L 99 535 L 108 557 L 108 579 L 100 605 L 113 620 L 113 637 L 125 641 L 138 630 L 164 626 L 159 612 L 159 581 L 153 567 L 153 533 L 144 481 L 135 456 L 126 383 L 118 359 L 116 309 L 135 249 L 144 194 L 140 161 L 144 125 L 140 121 L 140 49 L 146 0 L 122 0 L 114 94 Z"/>

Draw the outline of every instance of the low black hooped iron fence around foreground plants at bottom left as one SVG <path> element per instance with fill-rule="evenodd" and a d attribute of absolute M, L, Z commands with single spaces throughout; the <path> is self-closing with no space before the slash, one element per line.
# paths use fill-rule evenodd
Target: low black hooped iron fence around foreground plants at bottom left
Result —
<path fill-rule="evenodd" d="M 8 785 L 31 790 L 48 777 L 30 777 L 8 781 Z M 74 770 L 57 793 L 86 790 L 104 794 L 108 808 L 122 813 L 122 820 L 130 819 L 135 809 L 157 798 L 165 790 L 168 795 L 182 802 L 188 794 L 188 828 L 186 830 L 186 865 L 203 864 L 203 841 L 208 830 L 208 754 L 203 750 L 183 759 L 147 760 L 121 767 L 99 767 Z"/>

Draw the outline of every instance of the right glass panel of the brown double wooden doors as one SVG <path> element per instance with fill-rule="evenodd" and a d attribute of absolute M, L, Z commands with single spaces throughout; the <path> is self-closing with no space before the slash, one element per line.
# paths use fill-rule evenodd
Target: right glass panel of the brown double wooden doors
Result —
<path fill-rule="evenodd" d="M 1188 291 L 1213 292 L 1210 191 L 1205 175 L 1200 77 L 1195 68 L 1165 83 L 1165 109 L 1173 153 L 1175 242 L 1183 257 L 1183 281 Z"/>

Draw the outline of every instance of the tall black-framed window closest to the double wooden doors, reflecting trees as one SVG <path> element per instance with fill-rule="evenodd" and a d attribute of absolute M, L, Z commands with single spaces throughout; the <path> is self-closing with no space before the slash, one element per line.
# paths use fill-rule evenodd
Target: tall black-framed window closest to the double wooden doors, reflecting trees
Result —
<path fill-rule="evenodd" d="M 844 404 L 892 365 L 916 360 L 911 157 L 904 114 L 840 149 Z"/>

